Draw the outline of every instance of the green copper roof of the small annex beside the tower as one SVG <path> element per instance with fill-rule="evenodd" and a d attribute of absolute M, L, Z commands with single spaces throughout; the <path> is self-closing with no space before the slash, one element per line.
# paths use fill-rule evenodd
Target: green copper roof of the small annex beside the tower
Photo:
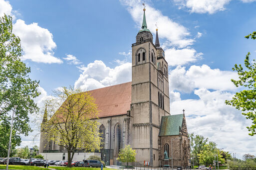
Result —
<path fill-rule="evenodd" d="M 158 136 L 179 135 L 182 128 L 183 114 L 163 116 Z"/>

